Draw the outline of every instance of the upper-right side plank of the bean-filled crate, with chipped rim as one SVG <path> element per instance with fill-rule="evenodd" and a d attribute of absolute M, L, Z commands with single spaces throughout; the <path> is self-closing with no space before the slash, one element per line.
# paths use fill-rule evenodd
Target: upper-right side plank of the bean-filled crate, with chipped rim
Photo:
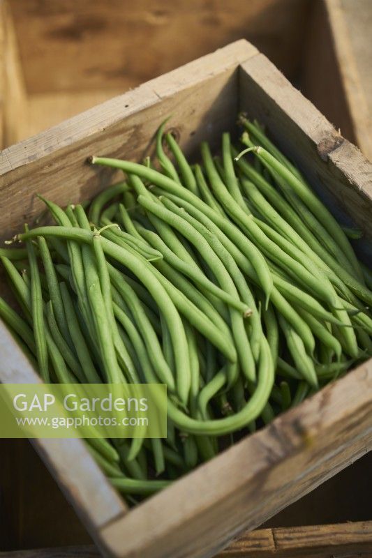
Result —
<path fill-rule="evenodd" d="M 242 65 L 240 109 L 265 123 L 336 218 L 372 238 L 372 165 L 270 63 L 255 56 Z M 325 162 L 327 164 L 325 164 Z"/>

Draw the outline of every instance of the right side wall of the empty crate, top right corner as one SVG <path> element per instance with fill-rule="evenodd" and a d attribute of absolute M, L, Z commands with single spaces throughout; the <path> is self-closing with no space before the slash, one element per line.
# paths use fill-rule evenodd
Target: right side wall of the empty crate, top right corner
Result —
<path fill-rule="evenodd" d="M 314 2 L 302 89 L 372 160 L 372 3 Z"/>

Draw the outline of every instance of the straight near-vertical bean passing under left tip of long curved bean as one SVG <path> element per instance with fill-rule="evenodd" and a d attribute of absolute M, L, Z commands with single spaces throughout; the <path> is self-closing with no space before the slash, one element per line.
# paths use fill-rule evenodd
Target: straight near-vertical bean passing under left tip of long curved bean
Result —
<path fill-rule="evenodd" d="M 27 231 L 27 229 L 26 229 Z M 38 264 L 34 245 L 31 241 L 27 241 L 27 255 L 29 257 L 30 266 L 30 298 L 31 298 L 31 317 L 34 329 L 34 338 L 36 345 L 36 357 L 38 360 L 38 369 L 40 376 L 44 382 L 49 382 L 49 368 L 47 357 L 47 340 L 45 336 L 45 322 L 43 312 L 43 296 L 41 294 L 40 276 L 38 273 Z"/>

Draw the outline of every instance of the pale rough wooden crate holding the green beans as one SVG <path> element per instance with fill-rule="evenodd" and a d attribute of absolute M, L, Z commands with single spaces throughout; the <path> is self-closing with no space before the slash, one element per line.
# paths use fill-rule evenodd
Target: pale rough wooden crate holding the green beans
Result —
<path fill-rule="evenodd" d="M 371 238 L 371 165 L 255 47 L 241 40 L 1 152 L 1 235 L 42 206 L 91 197 L 113 179 L 93 153 L 142 159 L 168 114 L 190 156 L 234 130 L 238 110 L 267 125 L 314 186 L 332 195 Z M 37 376 L 0 325 L 0 379 Z M 327 386 L 128 511 L 76 440 L 34 446 L 99 548 L 115 557 L 211 556 L 326 481 L 372 447 L 372 361 Z"/>

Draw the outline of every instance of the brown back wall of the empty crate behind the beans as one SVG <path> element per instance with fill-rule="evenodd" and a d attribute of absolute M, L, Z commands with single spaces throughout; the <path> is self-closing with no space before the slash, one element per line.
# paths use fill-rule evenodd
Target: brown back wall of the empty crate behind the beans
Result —
<path fill-rule="evenodd" d="M 128 89 L 240 38 L 294 75 L 310 7 L 308 0 L 8 3 L 31 94 L 102 89 L 103 83 Z"/>

